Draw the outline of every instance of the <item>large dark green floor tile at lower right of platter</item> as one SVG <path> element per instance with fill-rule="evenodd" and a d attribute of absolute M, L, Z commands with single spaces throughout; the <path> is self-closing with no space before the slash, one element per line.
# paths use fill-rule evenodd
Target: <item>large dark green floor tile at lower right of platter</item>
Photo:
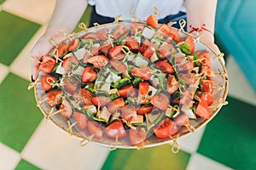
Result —
<path fill-rule="evenodd" d="M 256 107 L 228 101 L 207 125 L 198 152 L 235 169 L 255 169 Z"/>

